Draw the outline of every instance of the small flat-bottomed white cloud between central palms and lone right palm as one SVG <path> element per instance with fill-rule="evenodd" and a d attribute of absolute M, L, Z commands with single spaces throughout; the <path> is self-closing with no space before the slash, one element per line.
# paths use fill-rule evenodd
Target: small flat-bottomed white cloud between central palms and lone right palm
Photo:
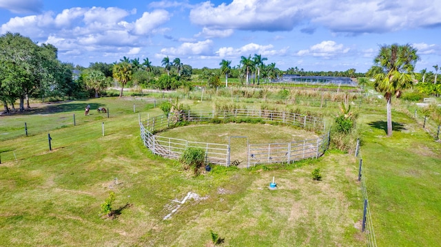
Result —
<path fill-rule="evenodd" d="M 349 52 L 350 48 L 342 44 L 337 44 L 335 41 L 322 41 L 316 45 L 312 45 L 308 50 L 300 50 L 297 52 L 298 56 L 319 56 L 323 58 L 330 58 Z"/>

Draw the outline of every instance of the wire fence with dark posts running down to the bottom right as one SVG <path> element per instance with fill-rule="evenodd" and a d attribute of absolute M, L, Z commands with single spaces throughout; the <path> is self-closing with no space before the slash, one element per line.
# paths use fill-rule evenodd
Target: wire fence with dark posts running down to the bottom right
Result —
<path fill-rule="evenodd" d="M 362 172 L 363 159 L 362 159 L 362 152 L 360 149 L 360 139 L 357 140 L 355 156 L 356 158 L 359 158 L 358 181 L 360 181 L 360 189 L 363 199 L 363 218 L 362 218 L 361 230 L 366 235 L 367 246 L 376 247 L 377 239 L 375 236 L 375 232 L 373 230 L 372 214 L 371 214 L 371 209 L 369 207 L 369 200 L 367 197 L 366 176 L 364 175 L 365 173 Z"/>

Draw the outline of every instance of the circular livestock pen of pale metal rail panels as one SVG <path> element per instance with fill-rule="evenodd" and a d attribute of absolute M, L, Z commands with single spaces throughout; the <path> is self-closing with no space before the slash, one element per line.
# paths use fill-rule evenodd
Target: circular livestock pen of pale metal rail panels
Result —
<path fill-rule="evenodd" d="M 178 127 L 181 122 L 233 122 L 241 119 L 245 122 L 280 123 L 300 127 L 307 131 L 325 131 L 325 121 L 314 116 L 294 114 L 285 111 L 269 111 L 255 109 L 236 109 L 234 111 L 179 111 L 176 114 L 156 116 L 140 122 L 141 138 L 145 147 L 152 153 L 164 158 L 179 159 L 188 147 L 205 150 L 205 160 L 212 164 L 230 166 L 236 164 L 232 160 L 231 146 L 228 144 L 194 142 L 178 138 L 157 135 L 166 129 Z M 246 136 L 230 136 L 247 138 Z M 289 163 L 307 158 L 318 158 L 329 148 L 329 132 L 311 138 L 283 143 L 249 143 L 244 153 L 247 167 L 256 164 Z"/>

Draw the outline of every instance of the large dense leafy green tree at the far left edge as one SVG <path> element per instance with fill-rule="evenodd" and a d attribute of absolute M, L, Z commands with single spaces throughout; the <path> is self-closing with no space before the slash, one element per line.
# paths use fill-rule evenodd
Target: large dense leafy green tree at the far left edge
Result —
<path fill-rule="evenodd" d="M 68 82 L 60 81 L 65 69 L 57 58 L 57 47 L 39 46 L 28 37 L 7 32 L 0 36 L 0 50 L 1 88 L 8 90 L 1 97 L 3 105 L 19 99 L 23 111 L 24 100 L 30 108 L 30 97 L 63 94 Z"/>

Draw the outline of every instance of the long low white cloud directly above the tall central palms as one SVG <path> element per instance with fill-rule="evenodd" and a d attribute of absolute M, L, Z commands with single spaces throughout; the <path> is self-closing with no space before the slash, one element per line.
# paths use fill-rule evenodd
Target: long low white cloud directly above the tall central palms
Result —
<path fill-rule="evenodd" d="M 224 57 L 240 57 L 244 54 L 260 54 L 262 56 L 284 56 L 289 47 L 285 47 L 281 50 L 274 50 L 273 45 L 258 45 L 255 43 L 249 43 L 240 48 L 233 47 L 221 47 L 216 54 L 221 58 Z"/>

